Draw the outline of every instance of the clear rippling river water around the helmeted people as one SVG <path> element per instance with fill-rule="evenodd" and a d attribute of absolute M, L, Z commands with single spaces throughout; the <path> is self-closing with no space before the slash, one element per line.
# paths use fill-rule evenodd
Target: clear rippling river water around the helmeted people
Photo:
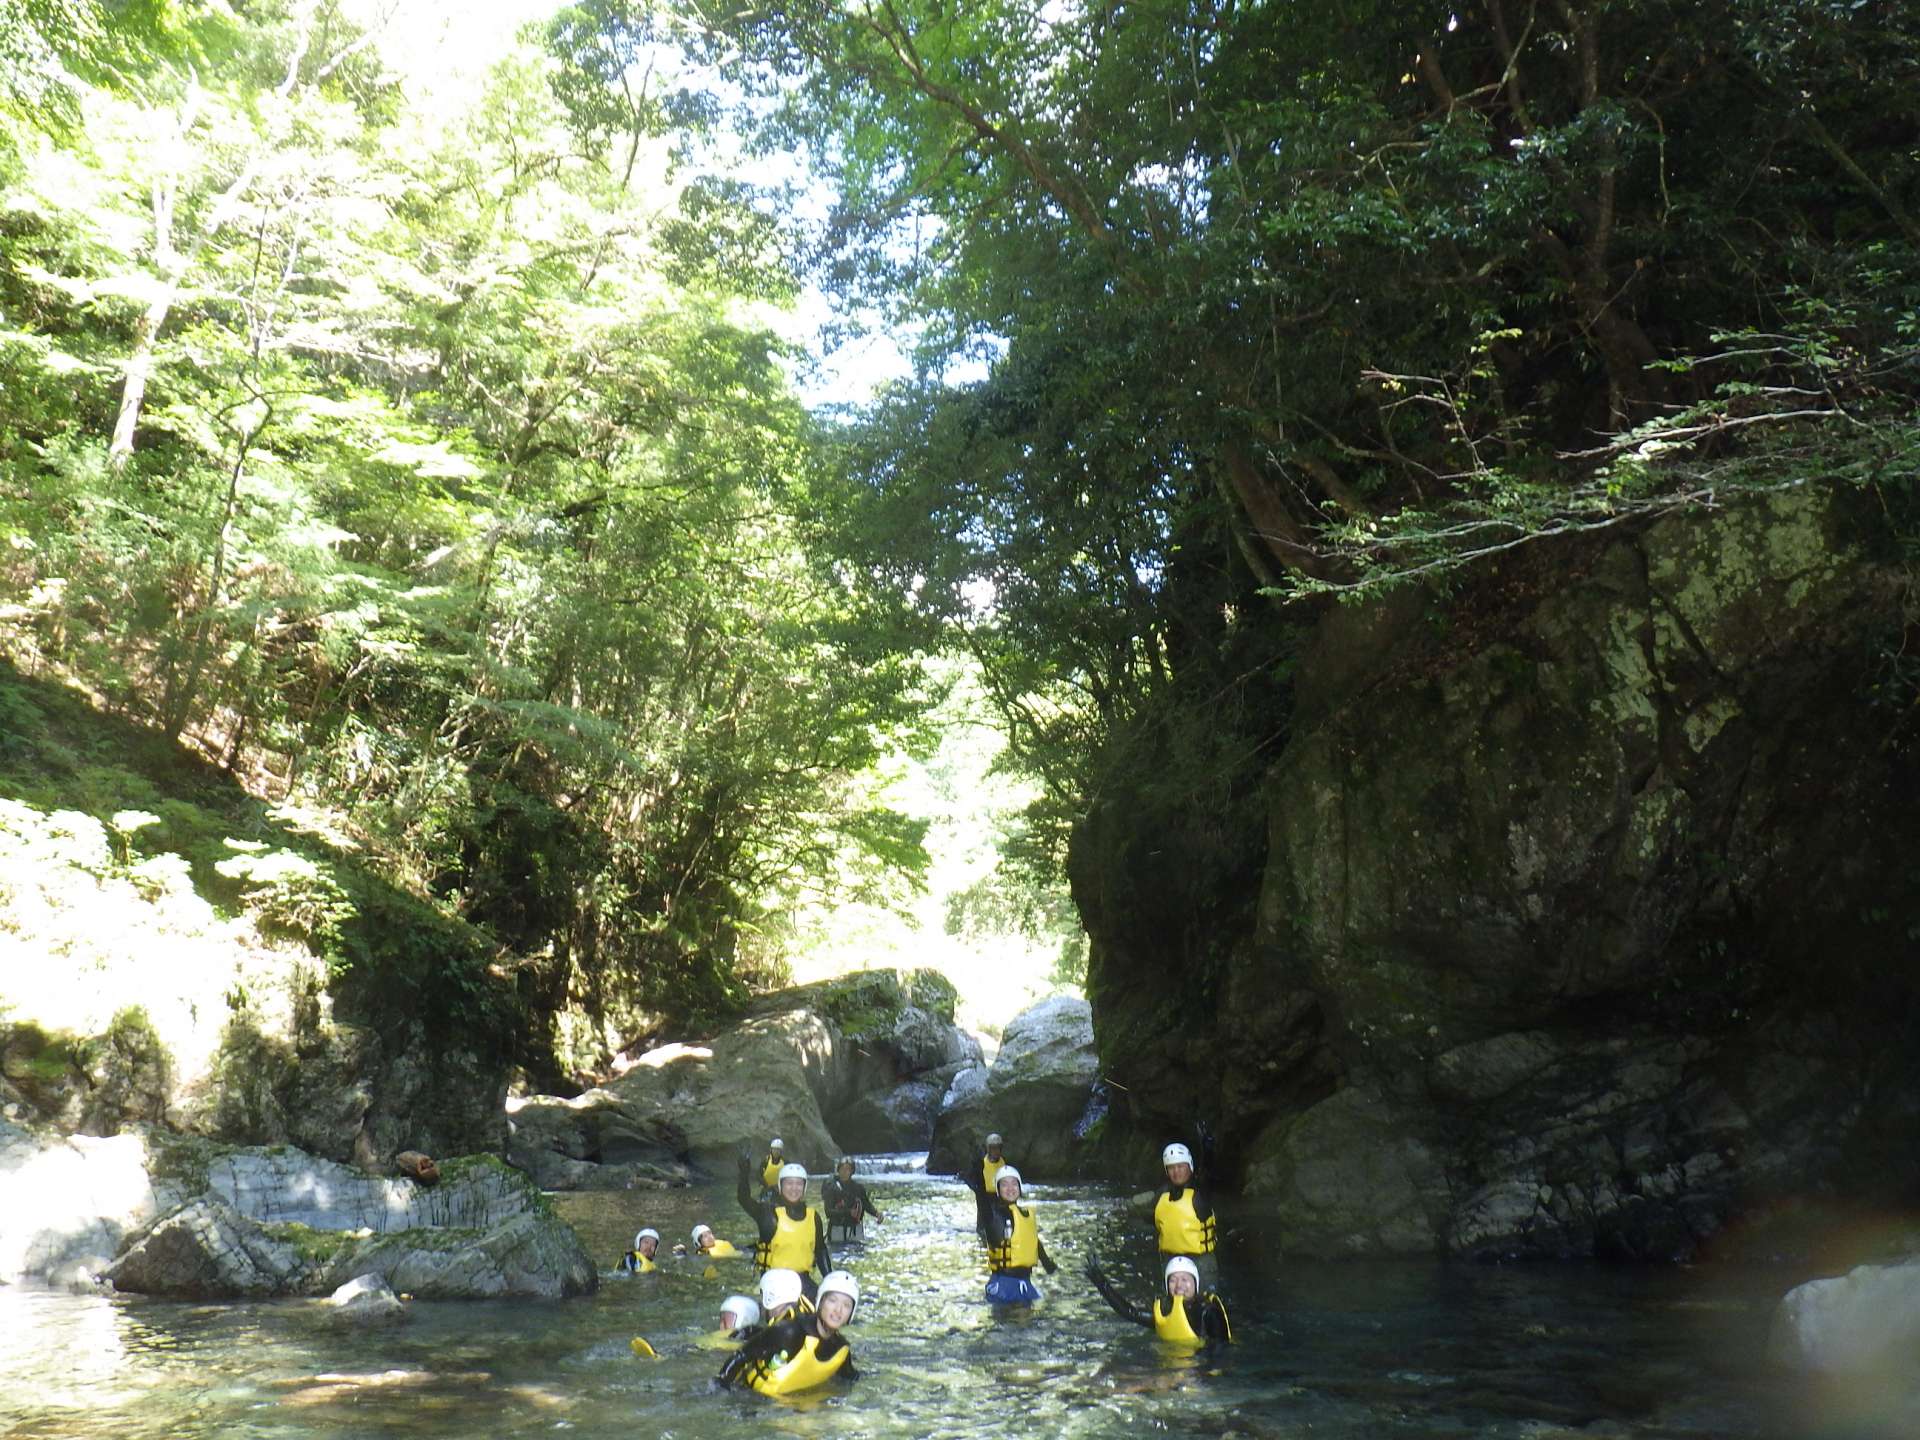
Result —
<path fill-rule="evenodd" d="M 1096 1256 L 1144 1298 L 1152 1231 L 1117 1190 L 1033 1187 L 1060 1273 L 1033 1309 L 983 1304 L 972 1196 L 891 1156 L 885 1223 L 841 1258 L 862 1286 L 862 1379 L 812 1396 L 714 1392 L 701 1348 L 745 1260 L 611 1271 L 641 1225 L 737 1244 L 724 1187 L 555 1196 L 607 1265 L 591 1300 L 415 1302 L 344 1329 L 311 1302 L 182 1304 L 0 1288 L 0 1436 L 1780 1436 L 1907 1440 L 1887 1396 L 1764 1363 L 1784 1271 L 1311 1263 L 1227 1213 L 1238 1344 L 1173 1354 L 1081 1279 Z M 866 1165 L 862 1169 L 868 1169 Z M 812 1194 L 818 1194 L 814 1187 Z M 641 1359 L 641 1334 L 659 1359 Z"/>

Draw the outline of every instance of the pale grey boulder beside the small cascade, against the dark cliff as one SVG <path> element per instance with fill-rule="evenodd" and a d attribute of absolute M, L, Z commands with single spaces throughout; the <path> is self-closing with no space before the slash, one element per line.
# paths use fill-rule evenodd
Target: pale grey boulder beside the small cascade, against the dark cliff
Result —
<path fill-rule="evenodd" d="M 1027 1006 L 1006 1023 L 991 1068 L 960 1071 L 941 1102 L 927 1169 L 952 1173 L 1006 1137 L 1006 1154 L 1025 1179 L 1081 1173 L 1083 1119 L 1100 1060 L 1092 1012 L 1077 995 Z"/>

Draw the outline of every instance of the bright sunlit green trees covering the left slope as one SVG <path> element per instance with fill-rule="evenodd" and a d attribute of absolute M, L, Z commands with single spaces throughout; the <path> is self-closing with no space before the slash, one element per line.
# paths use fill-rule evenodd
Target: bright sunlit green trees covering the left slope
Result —
<path fill-rule="evenodd" d="M 870 780 L 916 666 L 814 547 L 745 303 L 791 271 L 668 179 L 712 109 L 634 69 L 639 12 L 563 12 L 440 117 L 328 4 L 156 10 L 125 83 L 21 4 L 75 106 L 0 117 L 6 645 L 324 814 L 232 826 L 58 735 L 17 795 L 157 818 L 123 866 L 179 854 L 349 1004 L 501 1046 L 724 1012 L 783 887 L 925 864 Z"/>

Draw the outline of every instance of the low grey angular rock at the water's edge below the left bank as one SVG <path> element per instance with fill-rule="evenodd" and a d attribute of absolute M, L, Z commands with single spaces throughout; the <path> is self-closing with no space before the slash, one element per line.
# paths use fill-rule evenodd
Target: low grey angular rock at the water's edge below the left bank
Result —
<path fill-rule="evenodd" d="M 194 1194 L 134 1235 L 106 1275 L 180 1298 L 317 1296 L 363 1275 L 426 1300 L 591 1294 L 597 1271 L 540 1190 L 490 1156 L 440 1185 L 365 1175 L 298 1150 L 175 1144 Z"/>

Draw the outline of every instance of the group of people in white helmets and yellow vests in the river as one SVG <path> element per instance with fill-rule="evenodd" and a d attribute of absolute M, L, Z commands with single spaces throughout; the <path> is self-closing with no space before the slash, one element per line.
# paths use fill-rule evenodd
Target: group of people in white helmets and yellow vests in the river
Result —
<path fill-rule="evenodd" d="M 1033 1271 L 1052 1275 L 1060 1265 L 1046 1254 L 1033 1206 L 1023 1204 L 1021 1175 L 1006 1160 L 1004 1144 L 1004 1137 L 989 1135 L 979 1165 L 962 1171 L 960 1179 L 975 1200 L 975 1227 L 987 1252 L 987 1300 L 1033 1304 L 1041 1298 Z M 1183 1346 L 1233 1340 L 1227 1306 L 1213 1288 L 1217 1223 L 1208 1187 L 1212 1133 L 1204 1125 L 1200 1146 L 1198 1165 L 1183 1142 L 1165 1146 L 1160 1156 L 1165 1183 L 1154 1196 L 1154 1236 L 1164 1290 L 1142 1306 L 1098 1263 L 1085 1265 L 1087 1279 L 1117 1315 Z M 739 1158 L 737 1198 L 758 1229 L 753 1260 L 760 1269 L 760 1292 L 758 1300 L 730 1294 L 720 1306 L 720 1329 L 703 1342 L 733 1352 L 720 1367 L 720 1384 L 780 1396 L 854 1375 L 845 1327 L 860 1306 L 860 1283 L 835 1267 L 831 1246 L 835 1235 L 841 1242 L 856 1240 L 868 1219 L 885 1223 L 885 1217 L 854 1179 L 852 1156 L 841 1156 L 822 1185 L 820 1206 L 806 1204 L 806 1167 L 787 1160 L 781 1140 L 768 1144 L 758 1165 L 751 1152 Z M 659 1231 L 639 1231 L 620 1269 L 657 1269 L 659 1248 Z M 741 1254 L 705 1223 L 693 1227 L 689 1246 L 674 1250 L 691 1260 Z M 639 1338 L 634 1348 L 653 1354 Z"/>

